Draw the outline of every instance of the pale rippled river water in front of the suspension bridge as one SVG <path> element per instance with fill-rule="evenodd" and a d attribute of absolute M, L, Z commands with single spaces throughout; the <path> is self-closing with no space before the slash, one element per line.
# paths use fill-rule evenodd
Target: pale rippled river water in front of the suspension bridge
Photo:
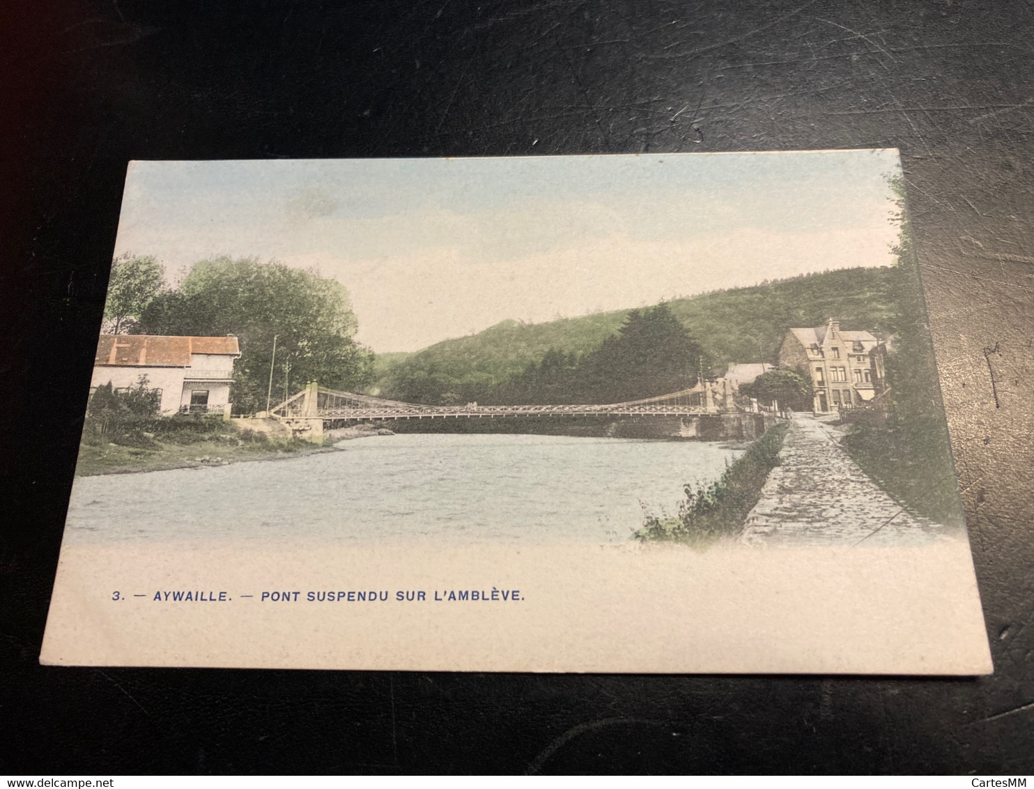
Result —
<path fill-rule="evenodd" d="M 705 442 L 422 434 L 271 462 L 75 479 L 69 543 L 624 542 L 740 451 Z"/>

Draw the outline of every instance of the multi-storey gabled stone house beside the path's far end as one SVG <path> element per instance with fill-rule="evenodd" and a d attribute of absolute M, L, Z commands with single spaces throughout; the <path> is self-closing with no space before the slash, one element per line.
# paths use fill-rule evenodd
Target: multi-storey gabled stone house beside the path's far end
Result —
<path fill-rule="evenodd" d="M 779 366 L 805 375 L 815 389 L 814 411 L 826 414 L 872 402 L 886 390 L 887 340 L 865 331 L 825 326 L 790 329 L 779 350 Z"/>

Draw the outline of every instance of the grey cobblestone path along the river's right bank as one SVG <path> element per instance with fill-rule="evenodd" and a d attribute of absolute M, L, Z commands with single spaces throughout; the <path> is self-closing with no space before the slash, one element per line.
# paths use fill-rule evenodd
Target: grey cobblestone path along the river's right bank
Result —
<path fill-rule="evenodd" d="M 794 414 L 781 464 L 747 516 L 739 541 L 770 545 L 918 545 L 947 529 L 905 512 L 858 467 L 830 425 Z"/>

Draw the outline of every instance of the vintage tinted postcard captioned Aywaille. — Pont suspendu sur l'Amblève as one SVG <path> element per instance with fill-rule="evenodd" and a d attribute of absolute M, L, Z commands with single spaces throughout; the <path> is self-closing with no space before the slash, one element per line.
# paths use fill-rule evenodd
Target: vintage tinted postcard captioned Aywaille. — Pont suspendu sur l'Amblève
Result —
<path fill-rule="evenodd" d="M 898 152 L 132 162 L 41 661 L 990 672 Z"/>

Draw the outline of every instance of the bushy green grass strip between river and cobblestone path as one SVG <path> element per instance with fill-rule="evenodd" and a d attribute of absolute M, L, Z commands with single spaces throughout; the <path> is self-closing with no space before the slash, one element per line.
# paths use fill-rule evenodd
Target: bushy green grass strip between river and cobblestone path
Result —
<path fill-rule="evenodd" d="M 721 479 L 708 486 L 686 486 L 686 500 L 673 517 L 646 515 L 633 539 L 676 542 L 703 550 L 723 537 L 736 534 L 758 503 L 768 472 L 779 465 L 779 453 L 789 429 L 776 425 L 736 459 Z"/>

